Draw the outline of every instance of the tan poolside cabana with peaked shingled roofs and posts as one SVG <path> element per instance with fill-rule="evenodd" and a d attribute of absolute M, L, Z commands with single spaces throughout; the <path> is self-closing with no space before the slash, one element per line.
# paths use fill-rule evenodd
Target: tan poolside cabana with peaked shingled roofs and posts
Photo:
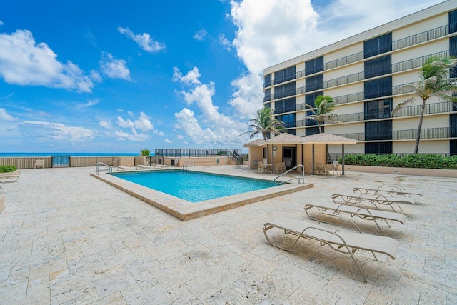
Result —
<path fill-rule="evenodd" d="M 249 149 L 250 169 L 256 169 L 257 162 L 265 160 L 272 165 L 284 162 L 287 169 L 303 164 L 307 174 L 314 174 L 315 164 L 327 163 L 327 145 L 341 145 L 341 174 L 344 175 L 344 145 L 356 143 L 354 139 L 326 133 L 305 137 L 284 133 L 266 141 L 257 139 L 243 146 Z"/>

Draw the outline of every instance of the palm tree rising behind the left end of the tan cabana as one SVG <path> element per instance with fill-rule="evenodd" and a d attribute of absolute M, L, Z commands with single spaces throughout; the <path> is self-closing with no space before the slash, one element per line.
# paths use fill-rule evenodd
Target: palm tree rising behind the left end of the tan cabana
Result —
<path fill-rule="evenodd" d="M 271 116 L 273 116 L 273 114 L 269 107 L 263 107 L 258 110 L 256 119 L 249 120 L 251 123 L 249 124 L 249 128 L 252 130 L 243 132 L 243 134 L 251 134 L 251 139 L 258 134 L 262 134 L 263 140 L 268 139 L 268 133 L 280 134 L 284 130 L 284 123 L 277 119 L 272 119 Z M 240 136 L 243 134 L 240 134 Z"/>

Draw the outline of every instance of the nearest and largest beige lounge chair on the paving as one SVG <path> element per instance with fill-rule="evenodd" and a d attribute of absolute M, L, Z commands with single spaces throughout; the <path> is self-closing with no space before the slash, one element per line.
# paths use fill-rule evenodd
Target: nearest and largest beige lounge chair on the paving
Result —
<path fill-rule="evenodd" d="M 280 229 L 286 235 L 291 234 L 297 236 L 296 240 L 293 241 L 292 246 L 286 248 L 277 243 L 274 244 L 271 242 L 266 234 L 266 231 L 273 228 Z M 351 256 L 358 273 L 362 276 L 363 281 L 365 282 L 367 281 L 365 276 L 363 276 L 361 266 L 357 264 L 353 254 L 355 254 L 358 250 L 365 250 L 370 251 L 376 261 L 378 261 L 378 258 L 376 257 L 375 252 L 379 254 L 386 254 L 392 259 L 395 259 L 398 247 L 400 246 L 400 243 L 391 237 L 339 231 L 316 223 L 291 219 L 288 217 L 281 217 L 264 224 L 263 234 L 265 234 L 268 244 L 286 251 L 293 249 L 293 246 L 297 244 L 298 240 L 304 238 L 313 239 L 318 241 L 321 246 L 327 245 L 335 251 L 348 254 Z"/>

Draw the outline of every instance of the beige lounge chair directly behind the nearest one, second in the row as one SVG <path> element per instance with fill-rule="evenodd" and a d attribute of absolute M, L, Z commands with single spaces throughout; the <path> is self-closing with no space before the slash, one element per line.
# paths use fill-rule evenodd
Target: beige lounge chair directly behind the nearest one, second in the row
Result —
<path fill-rule="evenodd" d="M 377 209 L 366 209 L 362 206 L 352 206 L 352 205 L 348 205 L 348 204 L 334 204 L 331 202 L 328 202 L 328 203 L 320 202 L 317 204 L 305 204 L 306 215 L 308 215 L 308 217 L 313 220 L 316 220 L 316 219 L 314 219 L 312 216 L 310 216 L 308 214 L 308 211 L 313 208 L 316 208 L 318 211 L 321 212 L 321 214 L 324 214 L 325 217 L 328 219 L 336 218 L 336 219 L 340 219 L 342 221 L 348 221 L 347 219 L 338 217 L 339 214 L 344 213 L 344 214 L 349 214 L 349 216 L 351 216 L 351 218 L 357 216 L 360 219 L 372 220 L 372 221 L 374 221 L 376 226 L 378 226 L 379 231 L 381 231 L 381 234 L 383 234 L 383 235 L 384 235 L 383 230 L 381 229 L 381 226 L 379 226 L 377 220 L 386 222 L 386 224 L 389 228 L 391 226 L 388 224 L 388 222 L 387 222 L 388 220 L 389 221 L 398 221 L 401 224 L 405 224 L 405 221 L 406 221 L 406 216 L 401 213 L 396 213 L 396 212 L 391 212 L 391 211 L 380 211 Z M 351 224 L 356 226 L 358 231 L 360 231 L 358 226 L 355 223 L 353 223 L 353 221 L 348 221 L 348 222 L 350 222 Z"/>

